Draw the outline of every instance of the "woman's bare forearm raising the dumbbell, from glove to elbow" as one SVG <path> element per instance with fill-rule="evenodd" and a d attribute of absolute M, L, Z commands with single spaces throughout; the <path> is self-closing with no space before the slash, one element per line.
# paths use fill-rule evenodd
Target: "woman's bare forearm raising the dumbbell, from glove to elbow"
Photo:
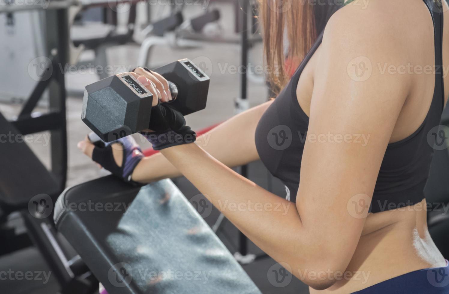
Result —
<path fill-rule="evenodd" d="M 275 260 L 298 268 L 309 266 L 310 258 L 318 262 L 322 252 L 305 232 L 294 203 L 240 176 L 196 144 L 174 146 L 161 153 Z"/>

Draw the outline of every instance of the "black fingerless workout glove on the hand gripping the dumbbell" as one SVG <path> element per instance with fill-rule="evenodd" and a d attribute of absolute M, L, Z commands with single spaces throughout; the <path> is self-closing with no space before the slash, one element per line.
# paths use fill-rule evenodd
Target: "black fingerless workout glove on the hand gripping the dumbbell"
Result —
<path fill-rule="evenodd" d="M 193 143 L 196 133 L 185 125 L 184 116 L 169 104 L 159 103 L 151 107 L 149 132 L 141 132 L 154 150 Z"/>

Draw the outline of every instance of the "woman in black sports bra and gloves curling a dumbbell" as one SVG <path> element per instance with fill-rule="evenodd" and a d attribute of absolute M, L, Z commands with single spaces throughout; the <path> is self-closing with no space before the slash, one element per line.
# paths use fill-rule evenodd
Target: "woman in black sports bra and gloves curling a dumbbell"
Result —
<path fill-rule="evenodd" d="M 311 293 L 449 293 L 449 268 L 427 231 L 423 196 L 433 151 L 426 138 L 449 89 L 448 77 L 424 69 L 449 62 L 448 5 L 338 3 L 261 1 L 268 65 L 285 62 L 284 31 L 289 58 L 303 60 L 291 79 L 286 68 L 271 73 L 278 97 L 198 137 L 207 144 L 161 142 L 159 134 L 191 131 L 179 113 L 154 106 L 149 140 L 161 152 L 121 176 L 148 183 L 184 175 Z M 160 101 L 170 100 L 162 77 L 141 68 L 134 75 Z M 98 152 L 88 141 L 79 147 Z M 127 166 L 121 151 L 110 154 Z M 286 185 L 286 199 L 229 168 L 257 159 Z M 288 209 L 223 205 L 249 202 Z"/>

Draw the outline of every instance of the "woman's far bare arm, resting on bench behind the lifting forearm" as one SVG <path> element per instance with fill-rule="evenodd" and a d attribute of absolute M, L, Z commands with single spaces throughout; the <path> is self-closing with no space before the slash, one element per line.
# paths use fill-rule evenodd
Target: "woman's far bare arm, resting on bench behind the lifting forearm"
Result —
<path fill-rule="evenodd" d="M 255 129 L 271 102 L 251 108 L 198 136 L 197 145 L 227 167 L 236 167 L 259 159 L 254 141 Z M 149 183 L 177 176 L 181 176 L 180 171 L 162 154 L 157 153 L 142 159 L 136 166 L 132 179 Z"/>

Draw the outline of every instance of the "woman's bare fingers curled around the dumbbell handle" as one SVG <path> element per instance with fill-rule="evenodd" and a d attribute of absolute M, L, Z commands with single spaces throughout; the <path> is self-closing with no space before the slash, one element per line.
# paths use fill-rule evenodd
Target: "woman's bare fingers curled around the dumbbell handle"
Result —
<path fill-rule="evenodd" d="M 153 97 L 158 97 L 159 101 L 168 102 L 173 100 L 168 81 L 162 75 L 142 67 L 137 67 L 129 74 L 141 82 L 153 94 Z M 153 99 L 153 106 L 158 104 L 158 100 Z"/>

